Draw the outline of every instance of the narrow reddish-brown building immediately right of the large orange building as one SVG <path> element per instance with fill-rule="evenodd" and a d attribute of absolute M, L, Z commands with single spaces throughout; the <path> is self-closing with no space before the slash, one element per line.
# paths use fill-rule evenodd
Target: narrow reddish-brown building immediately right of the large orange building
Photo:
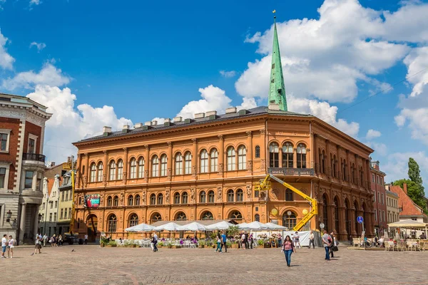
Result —
<path fill-rule="evenodd" d="M 385 173 L 379 170 L 379 161 L 370 162 L 370 187 L 373 192 L 374 232 L 378 237 L 388 229 L 387 193 L 384 186 Z"/>

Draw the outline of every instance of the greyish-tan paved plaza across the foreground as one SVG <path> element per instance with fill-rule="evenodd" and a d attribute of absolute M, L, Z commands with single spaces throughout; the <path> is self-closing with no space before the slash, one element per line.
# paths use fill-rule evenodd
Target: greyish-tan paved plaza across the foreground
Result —
<path fill-rule="evenodd" d="M 72 252 L 72 249 L 75 252 Z M 297 249 L 287 268 L 280 249 L 16 248 L 0 259 L 1 284 L 428 284 L 428 252 Z"/>

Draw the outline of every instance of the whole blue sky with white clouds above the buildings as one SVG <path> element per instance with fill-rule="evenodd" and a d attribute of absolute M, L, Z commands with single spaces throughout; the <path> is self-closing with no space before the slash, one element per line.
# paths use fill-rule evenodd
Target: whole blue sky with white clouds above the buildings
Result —
<path fill-rule="evenodd" d="M 276 9 L 290 108 L 373 147 L 387 181 L 413 156 L 427 182 L 424 1 L 100 3 L 0 0 L 0 92 L 56 113 L 49 160 L 106 124 L 265 105 Z"/>

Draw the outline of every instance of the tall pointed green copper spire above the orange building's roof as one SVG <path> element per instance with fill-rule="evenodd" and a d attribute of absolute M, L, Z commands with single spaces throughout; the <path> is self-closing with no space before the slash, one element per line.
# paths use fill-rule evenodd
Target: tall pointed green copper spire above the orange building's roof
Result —
<path fill-rule="evenodd" d="M 273 10 L 275 14 L 275 10 Z M 270 71 L 269 101 L 280 105 L 280 110 L 287 111 L 287 98 L 285 96 L 284 77 L 282 76 L 282 64 L 280 54 L 280 44 L 276 30 L 276 16 L 273 16 L 273 49 L 272 66 Z"/>

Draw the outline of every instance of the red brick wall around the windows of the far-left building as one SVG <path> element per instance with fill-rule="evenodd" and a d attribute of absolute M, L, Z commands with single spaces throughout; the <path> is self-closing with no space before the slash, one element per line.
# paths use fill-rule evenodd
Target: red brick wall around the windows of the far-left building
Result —
<path fill-rule="evenodd" d="M 11 130 L 9 153 L 0 152 L 0 161 L 11 162 L 11 166 L 9 167 L 8 189 L 13 189 L 14 175 L 16 172 L 16 154 L 18 153 L 19 119 L 0 117 L 0 128 Z"/>

